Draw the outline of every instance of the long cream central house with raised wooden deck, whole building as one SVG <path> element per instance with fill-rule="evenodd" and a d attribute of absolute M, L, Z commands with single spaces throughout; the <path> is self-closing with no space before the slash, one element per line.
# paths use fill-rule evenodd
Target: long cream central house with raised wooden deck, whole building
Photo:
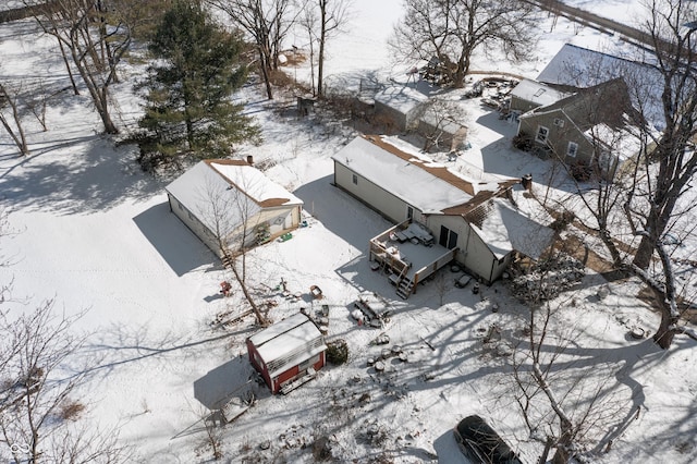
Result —
<path fill-rule="evenodd" d="M 519 180 L 470 182 L 379 136 L 357 137 L 332 159 L 334 184 L 396 223 L 370 241 L 370 260 L 392 272 L 403 297 L 453 259 L 490 283 L 553 239 L 516 209 Z"/>

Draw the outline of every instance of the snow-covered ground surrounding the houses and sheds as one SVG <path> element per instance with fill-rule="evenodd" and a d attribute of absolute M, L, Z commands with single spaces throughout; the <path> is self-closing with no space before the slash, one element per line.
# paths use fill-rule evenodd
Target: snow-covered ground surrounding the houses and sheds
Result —
<path fill-rule="evenodd" d="M 596 11 L 596 2 L 570 3 Z M 625 17 L 636 3 L 602 2 L 597 11 Z M 356 83 L 366 74 L 403 78 L 400 69 L 413 64 L 395 65 L 383 47 L 401 3 L 356 0 L 355 10 L 352 33 L 330 45 L 329 82 Z M 56 47 L 38 37 L 30 22 L 0 25 L 0 75 L 42 76 L 51 85 L 65 85 Z M 480 57 L 475 68 L 535 77 L 565 41 L 604 49 L 615 40 L 561 19 L 551 30 L 547 21 L 540 24 L 537 61 L 514 66 Z M 131 83 L 123 82 L 114 95 L 125 124 L 138 109 Z M 542 447 L 525 429 L 513 399 L 510 358 L 500 355 L 521 339 L 527 308 L 502 282 L 476 295 L 457 289 L 458 274 L 449 269 L 442 272 L 443 294 L 433 282 L 400 300 L 384 277 L 370 271 L 366 257 L 368 240 L 390 223 L 331 185 L 330 158 L 355 133 L 283 117 L 257 85 L 245 87 L 239 98 L 248 103 L 265 136 L 261 146 L 245 146 L 240 155 L 271 166 L 266 173 L 304 200 L 309 224 L 292 240 L 250 254 L 253 286 L 260 298 L 279 302 L 270 312 L 274 320 L 301 304 L 311 305 L 309 286 L 320 286 L 332 306 L 329 337 L 348 342 L 350 362 L 327 367 L 288 396 L 270 396 L 258 388 L 257 404 L 221 429 L 225 459 L 314 462 L 308 447 L 329 437 L 339 462 L 465 462 L 451 429 L 476 413 L 535 462 Z M 533 173 L 535 188 L 543 192 L 550 166 L 511 148 L 516 129 L 511 123 L 475 101 L 468 105 L 473 148 L 455 169 L 501 176 Z M 133 148 L 115 148 L 99 134 L 87 97 L 64 94 L 49 106 L 47 121 L 49 131 L 42 132 L 27 119 L 33 151 L 27 158 L 17 158 L 0 133 L 0 206 L 13 232 L 0 237 L 1 254 L 13 262 L 0 268 L 0 282 L 13 280 L 13 294 L 28 297 L 29 304 L 54 297 L 58 309 L 86 310 L 75 327 L 89 332 L 81 361 L 93 364 L 81 390 L 80 401 L 89 406 L 84 420 L 118 426 L 134 462 L 207 461 L 211 452 L 200 418 L 247 380 L 244 340 L 257 330 L 254 320 L 224 328 L 211 323 L 219 315 L 245 309 L 240 292 L 219 295 L 218 284 L 229 276 L 170 213 L 162 190 L 168 180 L 143 174 Z M 303 303 L 281 297 L 274 290 L 281 279 L 292 293 L 303 294 Z M 606 285 L 609 295 L 600 300 L 598 290 Z M 386 332 L 408 354 L 407 363 L 394 359 L 382 374 L 366 366 L 368 357 L 380 354 L 381 347 L 370 343 L 379 331 L 358 327 L 350 317 L 353 300 L 364 290 L 389 300 L 393 315 Z M 613 427 L 640 406 L 638 418 L 627 419 L 626 431 L 609 452 L 597 450 L 599 462 L 695 462 L 694 343 L 680 340 L 663 352 L 648 339 L 628 338 L 631 328 L 658 325 L 636 294 L 631 282 L 607 283 L 589 271 L 573 295 L 562 297 L 557 323 L 579 335 L 559 365 L 560 374 L 584 378 L 589 389 L 602 384 L 615 392 L 608 410 L 616 413 L 596 431 L 599 437 L 612 436 Z M 501 328 L 501 341 L 484 343 L 492 325 Z M 3 447 L 0 457 L 9 459 Z"/>

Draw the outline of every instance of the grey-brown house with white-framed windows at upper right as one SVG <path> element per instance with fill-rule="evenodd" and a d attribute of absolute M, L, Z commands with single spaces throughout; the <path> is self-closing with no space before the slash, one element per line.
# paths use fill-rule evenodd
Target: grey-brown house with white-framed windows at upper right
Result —
<path fill-rule="evenodd" d="M 639 154 L 643 125 L 625 82 L 614 78 L 522 114 L 518 136 L 529 138 L 535 151 L 553 154 L 575 174 L 599 169 L 602 178 L 612 179 L 619 164 Z"/>

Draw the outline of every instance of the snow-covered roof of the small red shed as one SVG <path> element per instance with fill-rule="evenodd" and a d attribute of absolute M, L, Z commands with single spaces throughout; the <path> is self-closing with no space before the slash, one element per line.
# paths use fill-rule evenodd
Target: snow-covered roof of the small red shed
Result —
<path fill-rule="evenodd" d="M 317 326 L 302 313 L 261 330 L 249 341 L 264 359 L 271 378 L 327 350 Z"/>

